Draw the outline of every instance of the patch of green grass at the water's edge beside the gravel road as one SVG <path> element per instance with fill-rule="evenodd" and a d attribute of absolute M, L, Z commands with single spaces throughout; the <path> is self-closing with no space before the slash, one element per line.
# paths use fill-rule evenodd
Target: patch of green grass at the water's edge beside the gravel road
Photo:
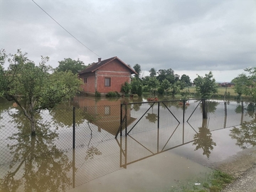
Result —
<path fill-rule="evenodd" d="M 195 178 L 186 183 L 181 183 L 171 188 L 170 192 L 218 192 L 225 188 L 228 183 L 232 183 L 233 180 L 233 176 L 219 170 L 214 170 L 210 174 L 206 174 L 203 178 Z"/>

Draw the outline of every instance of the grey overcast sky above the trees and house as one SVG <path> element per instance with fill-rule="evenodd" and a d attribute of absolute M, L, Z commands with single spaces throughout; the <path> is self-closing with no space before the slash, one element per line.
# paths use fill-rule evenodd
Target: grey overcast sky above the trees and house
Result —
<path fill-rule="evenodd" d="M 0 48 L 35 63 L 117 56 L 144 75 L 171 68 L 193 80 L 211 70 L 218 82 L 256 66 L 255 0 L 33 1 L 0 0 Z"/>

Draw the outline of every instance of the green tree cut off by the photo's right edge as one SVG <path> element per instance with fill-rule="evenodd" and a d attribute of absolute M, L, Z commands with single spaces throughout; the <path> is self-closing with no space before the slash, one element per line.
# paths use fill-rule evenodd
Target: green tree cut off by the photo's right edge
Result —
<path fill-rule="evenodd" d="M 253 102 L 256 102 L 256 68 L 246 68 L 245 72 L 248 75 L 242 73 L 232 80 L 235 83 L 235 92 L 239 96 L 242 94 L 250 96 Z"/>

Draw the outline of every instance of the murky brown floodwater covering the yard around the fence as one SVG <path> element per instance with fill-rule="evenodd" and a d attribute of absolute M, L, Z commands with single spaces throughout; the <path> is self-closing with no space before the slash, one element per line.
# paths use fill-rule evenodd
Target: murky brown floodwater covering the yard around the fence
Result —
<path fill-rule="evenodd" d="M 75 97 L 41 112 L 31 138 L 23 114 L 0 100 L 1 191 L 169 191 L 256 144 L 249 103 L 242 111 L 241 103 L 211 100 L 203 119 L 198 100 L 144 101 L 127 101 L 127 137 L 118 132 L 123 99 Z"/>

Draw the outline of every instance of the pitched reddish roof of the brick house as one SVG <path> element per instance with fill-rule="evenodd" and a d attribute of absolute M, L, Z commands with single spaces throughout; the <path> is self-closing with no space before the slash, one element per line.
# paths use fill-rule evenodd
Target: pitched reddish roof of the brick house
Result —
<path fill-rule="evenodd" d="M 101 60 L 100 62 L 97 62 L 97 63 L 92 63 L 92 65 L 90 65 L 89 67 L 85 68 L 84 70 L 81 70 L 79 72 L 79 74 L 82 74 L 82 73 L 93 73 L 93 72 L 95 72 L 95 70 L 98 70 L 102 66 L 107 65 L 107 63 L 110 63 L 112 60 L 115 60 L 115 59 L 119 60 L 120 63 L 125 65 L 127 68 L 129 68 L 131 74 L 137 74 L 132 68 L 129 67 L 129 65 L 125 64 L 122 60 L 120 60 L 117 57 Z"/>

